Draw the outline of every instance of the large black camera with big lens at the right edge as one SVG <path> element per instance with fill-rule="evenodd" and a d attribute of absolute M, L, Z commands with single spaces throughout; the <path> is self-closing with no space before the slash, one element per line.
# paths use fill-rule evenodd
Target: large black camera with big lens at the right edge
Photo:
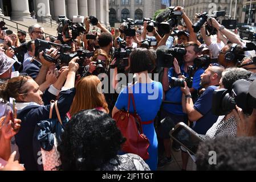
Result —
<path fill-rule="evenodd" d="M 212 112 L 215 115 L 229 114 L 235 105 L 240 107 L 245 114 L 251 114 L 253 108 L 256 109 L 255 94 L 256 75 L 252 75 L 247 80 L 235 81 L 232 85 L 231 94 L 227 89 L 218 89 L 213 92 Z M 252 84 L 254 82 L 254 84 Z"/>

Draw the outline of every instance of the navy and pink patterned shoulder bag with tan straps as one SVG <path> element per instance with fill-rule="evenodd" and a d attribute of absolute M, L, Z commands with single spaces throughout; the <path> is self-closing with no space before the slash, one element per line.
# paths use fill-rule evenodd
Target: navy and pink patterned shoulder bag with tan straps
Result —
<path fill-rule="evenodd" d="M 60 136 L 64 132 L 64 124 L 60 118 L 58 101 L 51 101 L 49 119 L 40 121 L 36 124 L 33 135 L 34 158 L 38 164 L 39 171 L 55 171 L 60 166 L 58 143 L 61 142 Z M 52 119 L 52 110 L 55 107 L 58 119 Z"/>

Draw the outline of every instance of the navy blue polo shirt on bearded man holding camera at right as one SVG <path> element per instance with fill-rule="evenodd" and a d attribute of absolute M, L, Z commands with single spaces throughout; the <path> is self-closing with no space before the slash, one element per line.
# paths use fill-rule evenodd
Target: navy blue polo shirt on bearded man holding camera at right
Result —
<path fill-rule="evenodd" d="M 212 100 L 213 92 L 217 89 L 217 86 L 209 86 L 205 89 L 205 92 L 198 98 L 194 104 L 194 109 L 196 109 L 200 114 L 203 115 L 202 118 L 194 122 L 193 130 L 198 134 L 205 135 L 206 132 L 213 126 L 217 121 L 218 116 L 212 114 Z"/>

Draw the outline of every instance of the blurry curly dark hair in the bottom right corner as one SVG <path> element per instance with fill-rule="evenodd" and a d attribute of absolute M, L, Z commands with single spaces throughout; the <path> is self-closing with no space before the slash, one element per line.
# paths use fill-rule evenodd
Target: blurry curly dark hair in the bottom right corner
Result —
<path fill-rule="evenodd" d="M 255 137 L 217 137 L 200 143 L 197 150 L 198 171 L 256 170 Z M 216 152 L 216 165 L 209 164 L 210 151 Z"/>

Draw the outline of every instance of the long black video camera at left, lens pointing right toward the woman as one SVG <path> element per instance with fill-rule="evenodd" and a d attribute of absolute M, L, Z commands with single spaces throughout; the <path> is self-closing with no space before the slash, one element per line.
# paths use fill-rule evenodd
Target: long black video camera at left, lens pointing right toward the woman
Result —
<path fill-rule="evenodd" d="M 59 58 L 56 60 L 52 58 L 50 55 L 47 55 L 48 50 L 53 47 L 59 48 Z M 44 51 L 43 57 L 47 61 L 55 64 L 68 64 L 74 57 L 79 57 L 79 61 L 77 62 L 80 66 L 83 65 L 84 59 L 86 57 L 92 57 L 94 55 L 94 52 L 90 52 L 88 50 L 79 49 L 75 53 L 69 53 L 71 50 L 71 47 L 66 44 L 55 44 L 51 42 L 47 42 L 45 40 L 36 39 L 35 40 L 35 56 L 38 55 L 39 52 Z"/>

